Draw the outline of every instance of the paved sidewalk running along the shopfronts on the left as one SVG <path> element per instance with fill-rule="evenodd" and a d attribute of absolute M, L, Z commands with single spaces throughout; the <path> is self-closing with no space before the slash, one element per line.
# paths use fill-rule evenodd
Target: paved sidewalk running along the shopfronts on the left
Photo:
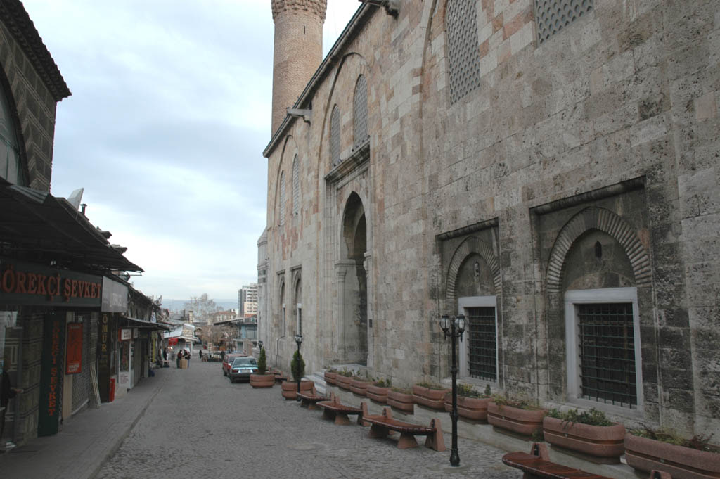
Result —
<path fill-rule="evenodd" d="M 129 393 L 100 408 L 88 408 L 54 436 L 38 437 L 0 454 L 0 476 L 7 479 L 91 479 L 143 416 L 170 375 L 156 370 Z"/>

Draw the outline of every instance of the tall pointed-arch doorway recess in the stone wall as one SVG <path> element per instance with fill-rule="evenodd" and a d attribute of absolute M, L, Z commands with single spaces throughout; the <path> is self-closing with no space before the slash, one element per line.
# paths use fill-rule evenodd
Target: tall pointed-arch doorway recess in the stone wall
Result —
<path fill-rule="evenodd" d="M 367 224 L 359 195 L 350 194 L 343 211 L 338 261 L 339 312 L 338 353 L 347 363 L 367 365 L 368 313 Z"/>

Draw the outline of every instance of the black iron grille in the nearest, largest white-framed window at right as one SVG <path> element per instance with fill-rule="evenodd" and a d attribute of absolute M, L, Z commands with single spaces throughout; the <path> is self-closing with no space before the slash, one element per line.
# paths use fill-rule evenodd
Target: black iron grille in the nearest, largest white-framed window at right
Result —
<path fill-rule="evenodd" d="M 631 303 L 577 305 L 583 398 L 637 405 L 635 338 Z"/>

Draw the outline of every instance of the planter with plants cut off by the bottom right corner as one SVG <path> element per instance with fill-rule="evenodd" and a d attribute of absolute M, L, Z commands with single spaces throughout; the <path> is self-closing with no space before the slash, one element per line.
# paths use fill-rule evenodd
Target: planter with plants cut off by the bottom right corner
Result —
<path fill-rule="evenodd" d="M 720 454 L 710 439 L 702 434 L 686 439 L 669 429 L 631 429 L 625 434 L 625 459 L 637 470 L 661 470 L 673 479 L 718 477 Z"/>

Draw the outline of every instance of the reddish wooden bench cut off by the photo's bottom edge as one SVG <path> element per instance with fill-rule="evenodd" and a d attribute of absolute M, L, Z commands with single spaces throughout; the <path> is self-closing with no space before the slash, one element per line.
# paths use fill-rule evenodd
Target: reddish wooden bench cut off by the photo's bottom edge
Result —
<path fill-rule="evenodd" d="M 523 479 L 610 479 L 603 475 L 587 473 L 584 470 L 550 462 L 546 445 L 537 442 L 530 449 L 530 454 L 508 452 L 503 456 L 503 462 L 505 465 L 523 471 Z M 650 479 L 671 478 L 668 473 L 652 471 Z"/>

